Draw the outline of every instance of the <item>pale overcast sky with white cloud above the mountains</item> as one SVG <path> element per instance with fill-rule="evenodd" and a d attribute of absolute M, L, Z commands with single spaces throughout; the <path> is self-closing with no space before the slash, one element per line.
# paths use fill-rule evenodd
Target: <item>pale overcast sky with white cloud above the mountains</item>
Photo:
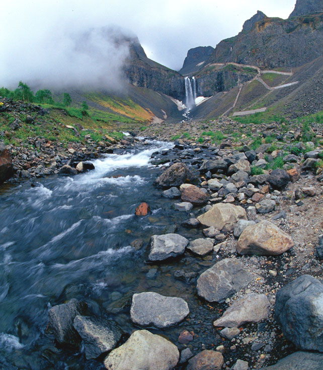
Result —
<path fill-rule="evenodd" d="M 148 57 L 178 70 L 190 48 L 215 47 L 240 32 L 257 10 L 286 19 L 294 5 L 295 0 L 8 0 L 1 6 L 0 85 L 37 74 L 100 79 L 96 71 L 103 58 L 113 79 L 126 51 L 113 49 L 101 31 L 83 38 L 89 29 L 111 26 L 137 35 Z M 75 51 L 75 40 L 82 52 Z"/>

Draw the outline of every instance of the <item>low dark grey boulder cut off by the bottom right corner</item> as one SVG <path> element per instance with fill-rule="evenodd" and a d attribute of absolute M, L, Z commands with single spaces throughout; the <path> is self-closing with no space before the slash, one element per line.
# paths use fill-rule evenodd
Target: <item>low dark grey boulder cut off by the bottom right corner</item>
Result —
<path fill-rule="evenodd" d="M 323 354 L 295 352 L 279 360 L 275 365 L 260 370 L 322 370 Z"/>

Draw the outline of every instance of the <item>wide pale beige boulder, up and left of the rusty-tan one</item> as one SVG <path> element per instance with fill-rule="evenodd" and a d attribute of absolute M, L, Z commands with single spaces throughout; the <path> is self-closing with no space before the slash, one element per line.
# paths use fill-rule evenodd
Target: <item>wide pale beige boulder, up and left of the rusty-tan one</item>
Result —
<path fill-rule="evenodd" d="M 197 217 L 202 225 L 229 232 L 241 219 L 247 220 L 247 213 L 244 208 L 232 204 L 218 203 L 209 211 Z"/>

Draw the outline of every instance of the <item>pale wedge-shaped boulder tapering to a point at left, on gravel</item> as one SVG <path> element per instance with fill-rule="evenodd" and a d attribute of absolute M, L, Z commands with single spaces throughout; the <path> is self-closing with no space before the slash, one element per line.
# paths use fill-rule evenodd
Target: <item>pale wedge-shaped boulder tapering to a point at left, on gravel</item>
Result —
<path fill-rule="evenodd" d="M 265 294 L 250 293 L 233 302 L 213 325 L 234 328 L 247 322 L 259 322 L 268 319 L 269 307 L 270 302 Z"/>

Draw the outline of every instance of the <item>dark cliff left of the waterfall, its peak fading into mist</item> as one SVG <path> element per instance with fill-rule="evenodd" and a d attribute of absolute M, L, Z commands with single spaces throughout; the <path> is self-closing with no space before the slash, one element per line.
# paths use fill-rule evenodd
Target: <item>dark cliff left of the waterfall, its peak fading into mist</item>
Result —
<path fill-rule="evenodd" d="M 138 39 L 128 40 L 128 45 L 130 56 L 124 71 L 132 85 L 151 88 L 178 100 L 185 98 L 184 77 L 179 72 L 147 58 Z"/>

